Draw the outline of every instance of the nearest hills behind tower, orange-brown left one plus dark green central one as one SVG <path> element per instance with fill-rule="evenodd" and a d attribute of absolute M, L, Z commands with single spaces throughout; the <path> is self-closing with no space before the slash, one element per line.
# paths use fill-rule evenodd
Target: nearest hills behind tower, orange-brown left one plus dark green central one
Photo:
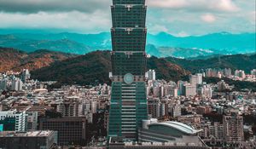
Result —
<path fill-rule="evenodd" d="M 5 56 L 3 56 L 5 55 Z M 6 56 L 7 55 L 7 56 Z M 0 72 L 20 71 L 28 68 L 32 78 L 58 83 L 110 83 L 110 51 L 95 51 L 84 55 L 65 54 L 49 50 L 25 53 L 17 49 L 0 48 Z M 10 63 L 13 61 L 13 63 Z M 164 58 L 148 59 L 148 69 L 154 69 L 158 78 L 182 79 L 189 74 L 182 67 Z"/>

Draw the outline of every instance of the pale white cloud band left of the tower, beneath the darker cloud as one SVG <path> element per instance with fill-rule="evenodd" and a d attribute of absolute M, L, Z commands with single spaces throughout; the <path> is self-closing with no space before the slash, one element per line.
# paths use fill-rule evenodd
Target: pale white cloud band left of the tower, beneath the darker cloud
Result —
<path fill-rule="evenodd" d="M 0 28 L 56 28 L 75 32 L 102 32 L 111 27 L 109 14 L 96 11 L 85 14 L 72 12 L 38 12 L 36 14 L 3 13 L 0 12 Z"/>

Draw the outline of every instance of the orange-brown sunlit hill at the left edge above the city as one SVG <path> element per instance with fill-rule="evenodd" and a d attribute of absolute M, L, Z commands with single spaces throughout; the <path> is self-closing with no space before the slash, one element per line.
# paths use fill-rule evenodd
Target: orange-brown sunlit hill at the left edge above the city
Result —
<path fill-rule="evenodd" d="M 66 60 L 73 56 L 75 55 L 44 49 L 27 54 L 17 49 L 0 47 L 0 72 L 9 70 L 20 71 L 24 68 L 35 70 L 44 66 L 49 66 L 55 61 Z"/>

